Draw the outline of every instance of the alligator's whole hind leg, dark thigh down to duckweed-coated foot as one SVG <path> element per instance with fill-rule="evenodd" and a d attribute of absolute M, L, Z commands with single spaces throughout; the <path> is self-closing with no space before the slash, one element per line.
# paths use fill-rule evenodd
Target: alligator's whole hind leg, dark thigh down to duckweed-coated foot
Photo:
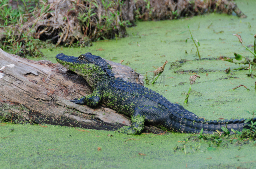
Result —
<path fill-rule="evenodd" d="M 145 119 L 154 121 L 154 117 L 159 114 L 159 109 L 154 106 L 139 106 L 134 110 L 131 126 L 124 126 L 117 130 L 119 133 L 128 135 L 140 134 L 144 129 Z"/>

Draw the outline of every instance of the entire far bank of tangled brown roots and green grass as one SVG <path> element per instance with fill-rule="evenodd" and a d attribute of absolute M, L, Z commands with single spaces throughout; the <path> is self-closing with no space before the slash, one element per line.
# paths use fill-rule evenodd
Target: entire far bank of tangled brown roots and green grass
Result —
<path fill-rule="evenodd" d="M 85 47 L 127 36 L 136 21 L 179 19 L 205 13 L 246 15 L 233 0 L 0 0 L 0 48 L 40 57 L 41 48 Z"/>

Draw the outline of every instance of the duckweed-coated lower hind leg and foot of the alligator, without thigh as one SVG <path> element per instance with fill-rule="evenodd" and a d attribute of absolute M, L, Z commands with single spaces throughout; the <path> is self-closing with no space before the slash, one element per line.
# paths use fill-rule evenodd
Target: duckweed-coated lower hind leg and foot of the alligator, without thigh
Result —
<path fill-rule="evenodd" d="M 128 134 L 128 135 L 136 135 L 136 134 L 140 134 L 140 132 L 144 129 L 144 122 L 145 122 L 145 107 L 139 107 L 137 109 L 135 109 L 133 116 L 132 116 L 132 124 L 131 126 L 124 126 L 118 130 L 116 130 L 116 132 L 118 133 L 124 133 L 124 134 Z"/>

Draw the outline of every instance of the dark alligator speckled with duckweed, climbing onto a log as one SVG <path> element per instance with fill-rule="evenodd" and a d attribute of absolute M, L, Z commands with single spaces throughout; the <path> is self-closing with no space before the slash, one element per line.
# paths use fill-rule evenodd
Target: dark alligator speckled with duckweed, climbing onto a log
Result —
<path fill-rule="evenodd" d="M 92 87 L 93 92 L 81 99 L 70 100 L 76 104 L 90 107 L 104 105 L 130 116 L 131 126 L 117 130 L 128 135 L 140 134 L 144 123 L 164 126 L 167 129 L 182 133 L 213 133 L 228 130 L 248 128 L 245 119 L 235 120 L 205 120 L 186 110 L 179 104 L 172 103 L 155 91 L 140 84 L 116 78 L 111 66 L 100 56 L 92 53 L 81 54 L 79 57 L 56 55 L 56 60 L 67 69 L 81 75 Z M 256 121 L 256 118 L 253 119 Z"/>

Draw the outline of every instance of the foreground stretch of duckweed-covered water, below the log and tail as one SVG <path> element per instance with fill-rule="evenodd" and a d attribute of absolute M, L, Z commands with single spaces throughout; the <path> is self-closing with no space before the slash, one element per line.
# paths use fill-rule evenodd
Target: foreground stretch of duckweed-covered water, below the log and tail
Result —
<path fill-rule="evenodd" d="M 189 134 L 127 136 L 113 131 L 0 123 L 0 168 L 255 168 L 253 144 L 213 146 Z M 108 136 L 112 135 L 112 136 Z M 6 137 L 6 138 L 5 138 Z"/>

